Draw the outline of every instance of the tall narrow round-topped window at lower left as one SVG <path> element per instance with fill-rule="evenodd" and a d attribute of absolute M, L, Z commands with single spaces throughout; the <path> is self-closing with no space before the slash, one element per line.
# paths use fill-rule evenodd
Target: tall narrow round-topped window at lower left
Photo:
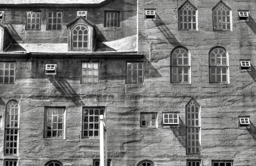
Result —
<path fill-rule="evenodd" d="M 19 139 L 19 106 L 16 101 L 10 101 L 6 107 L 5 115 L 5 145 L 4 155 L 18 154 Z"/>

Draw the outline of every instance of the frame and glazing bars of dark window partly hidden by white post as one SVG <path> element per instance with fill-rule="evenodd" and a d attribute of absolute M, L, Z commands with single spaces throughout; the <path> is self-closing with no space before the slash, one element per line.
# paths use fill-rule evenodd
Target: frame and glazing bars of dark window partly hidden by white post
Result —
<path fill-rule="evenodd" d="M 84 129 L 84 110 L 85 109 L 88 109 L 88 129 L 87 129 L 87 131 L 90 131 L 90 129 L 89 129 L 89 124 L 90 124 L 90 122 L 89 122 L 89 117 L 90 117 L 90 109 L 93 109 L 93 116 L 92 117 L 95 117 L 95 112 L 94 112 L 94 110 L 95 109 L 99 109 L 99 129 L 98 129 L 98 131 L 99 131 L 99 133 L 98 133 L 98 137 L 95 137 L 94 136 L 94 131 L 95 131 L 95 129 L 94 129 L 94 126 L 93 126 L 93 136 L 92 137 L 90 137 L 89 135 L 87 136 L 87 137 L 85 137 L 84 136 L 84 130 L 86 130 L 86 129 Z M 100 110 L 101 109 L 104 109 L 104 113 L 103 113 L 103 116 L 106 118 L 106 108 L 104 107 L 104 106 L 99 106 L 99 107 L 97 107 L 97 106 L 92 106 L 92 107 L 90 107 L 90 106 L 85 106 L 85 107 L 82 107 L 82 135 L 81 135 L 81 138 L 82 139 L 100 139 Z M 93 118 L 94 119 L 94 118 Z M 93 124 L 95 124 L 95 122 L 94 122 L 94 120 L 93 120 L 93 122 L 92 122 Z"/>

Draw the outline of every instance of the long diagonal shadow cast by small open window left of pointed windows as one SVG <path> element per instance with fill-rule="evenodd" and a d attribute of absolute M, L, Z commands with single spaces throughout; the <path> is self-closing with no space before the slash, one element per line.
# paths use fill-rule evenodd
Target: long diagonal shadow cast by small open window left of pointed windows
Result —
<path fill-rule="evenodd" d="M 175 38 L 169 28 L 164 24 L 163 20 L 156 14 L 156 19 L 153 20 L 156 27 L 160 30 L 160 32 L 164 35 L 164 37 L 172 43 L 172 45 L 180 46 L 180 42 Z"/>

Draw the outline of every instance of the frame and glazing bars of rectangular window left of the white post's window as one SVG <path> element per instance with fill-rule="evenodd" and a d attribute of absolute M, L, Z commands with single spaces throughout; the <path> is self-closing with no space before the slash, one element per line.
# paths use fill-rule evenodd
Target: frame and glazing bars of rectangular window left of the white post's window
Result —
<path fill-rule="evenodd" d="M 52 108 L 52 112 L 53 112 L 53 109 L 57 108 L 58 109 L 58 114 L 57 114 L 58 117 L 59 117 L 59 109 L 63 109 L 62 137 L 47 137 L 47 113 L 48 113 L 48 108 Z M 57 107 L 56 106 L 45 106 L 44 107 L 44 137 L 43 137 L 43 139 L 50 139 L 50 140 L 66 139 L 66 112 L 67 112 L 66 107 L 60 107 L 60 106 L 57 106 Z M 53 124 L 53 122 L 51 122 L 51 124 Z M 57 124 L 59 124 L 58 120 L 57 120 Z M 53 130 L 51 129 L 51 131 L 53 131 Z"/>

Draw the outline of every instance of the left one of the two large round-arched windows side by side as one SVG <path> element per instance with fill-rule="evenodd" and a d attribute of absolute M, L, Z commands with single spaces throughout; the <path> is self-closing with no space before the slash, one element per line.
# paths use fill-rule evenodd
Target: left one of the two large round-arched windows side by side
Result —
<path fill-rule="evenodd" d="M 188 49 L 176 47 L 172 50 L 171 83 L 190 83 L 190 60 Z"/>

